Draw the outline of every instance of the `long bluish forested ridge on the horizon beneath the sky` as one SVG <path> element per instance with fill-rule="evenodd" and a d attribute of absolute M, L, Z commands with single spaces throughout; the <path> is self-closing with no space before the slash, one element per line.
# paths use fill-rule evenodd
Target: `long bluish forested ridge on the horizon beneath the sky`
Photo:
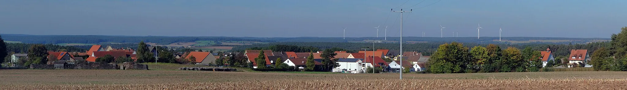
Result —
<path fill-rule="evenodd" d="M 384 37 L 172 37 L 172 36 L 125 36 L 125 35 L 24 35 L 0 34 L 4 40 L 22 43 L 137 43 L 140 41 L 160 44 L 176 42 L 196 42 L 199 40 L 241 41 L 241 42 L 364 42 L 383 40 Z M 398 43 L 399 37 L 387 37 L 388 43 Z M 473 42 L 473 43 L 589 43 L 605 42 L 610 38 L 566 38 L 566 37 L 404 37 L 406 43 L 424 42 Z M 397 41 L 397 42 L 393 42 Z"/>

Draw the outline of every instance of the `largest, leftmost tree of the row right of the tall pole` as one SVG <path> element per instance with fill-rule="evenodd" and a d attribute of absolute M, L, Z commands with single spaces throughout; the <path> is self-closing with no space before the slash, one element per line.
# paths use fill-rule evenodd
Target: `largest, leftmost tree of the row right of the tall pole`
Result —
<path fill-rule="evenodd" d="M 431 55 L 427 70 L 431 73 L 464 73 L 470 62 L 468 47 L 453 42 L 438 47 L 438 52 Z"/>

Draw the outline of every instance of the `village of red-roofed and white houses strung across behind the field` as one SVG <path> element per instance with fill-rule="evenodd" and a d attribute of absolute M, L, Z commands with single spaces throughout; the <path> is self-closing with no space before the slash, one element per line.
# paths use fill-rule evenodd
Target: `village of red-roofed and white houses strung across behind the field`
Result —
<path fill-rule="evenodd" d="M 152 58 L 159 58 L 160 50 L 157 47 L 147 47 L 148 52 L 152 53 Z M 167 51 L 163 51 L 167 52 Z M 261 54 L 260 52 L 263 52 Z M 541 54 L 539 59 L 542 61 L 542 66 L 547 66 L 547 63 L 554 62 L 556 60 L 551 48 L 547 48 L 545 51 L 537 51 Z M 54 69 L 64 69 L 63 65 L 72 65 L 77 62 L 98 63 L 97 59 L 103 56 L 112 56 L 114 61 L 120 61 L 124 58 L 130 58 L 132 61 L 125 63 L 137 62 L 137 52 L 133 48 L 112 48 L 110 46 L 92 45 L 92 47 L 85 53 L 82 52 L 59 52 L 48 50 L 47 65 L 55 65 Z M 314 59 L 315 67 L 323 67 L 323 57 L 321 56 L 324 51 L 317 52 L 273 52 L 272 50 L 245 50 L 245 52 L 221 52 L 211 53 L 209 51 L 192 51 L 192 52 L 177 52 L 172 53 L 172 59 L 177 60 L 189 60 L 191 65 L 206 65 L 206 66 L 236 66 L 229 65 L 228 61 L 224 60 L 226 57 L 242 54 L 246 57 L 246 63 L 250 64 L 249 68 L 258 68 L 258 64 L 255 58 L 263 55 L 265 57 L 266 68 L 277 68 L 278 64 L 285 63 L 292 66 L 292 70 L 288 71 L 305 71 L 307 67 L 307 58 L 312 55 Z M 335 56 L 330 58 L 337 62 L 337 67 L 330 69 L 330 72 L 339 73 L 409 73 L 425 71 L 428 65 L 429 58 L 431 56 L 424 56 L 420 52 L 403 52 L 399 54 L 399 50 L 385 50 L 377 49 L 376 51 L 359 51 L 359 52 L 346 52 L 346 51 L 334 51 Z M 556 68 L 574 68 L 574 67 L 592 67 L 587 63 L 590 62 L 591 57 L 587 53 L 587 50 L 571 50 L 570 58 L 560 61 L 566 63 Z M 15 53 L 11 55 L 11 63 L 18 63 L 20 58 L 29 60 L 29 53 Z M 402 56 L 403 60 L 400 60 Z M 193 59 L 192 59 L 193 58 Z M 227 59 L 228 60 L 228 59 Z M 155 60 L 156 61 L 156 60 Z M 161 60 L 170 61 L 170 60 Z M 402 65 L 401 65 L 402 61 Z M 110 64 L 115 64 L 109 62 Z M 156 62 L 159 63 L 159 62 Z M 166 62 L 161 62 L 166 63 Z M 60 66 L 61 65 L 61 66 Z M 240 64 L 240 66 L 243 64 Z M 13 64 L 12 66 L 21 66 L 19 64 Z M 122 65 L 120 65 L 122 66 Z M 246 66 L 242 66 L 246 67 Z M 380 69 L 374 71 L 367 71 L 367 68 Z M 552 66 L 549 66 L 552 67 Z M 31 67 L 32 68 L 32 67 Z M 319 68 L 317 68 L 319 69 Z M 405 71 L 401 71 L 405 70 Z M 145 69 L 147 70 L 147 69 Z M 314 70 L 324 71 L 324 70 Z"/>

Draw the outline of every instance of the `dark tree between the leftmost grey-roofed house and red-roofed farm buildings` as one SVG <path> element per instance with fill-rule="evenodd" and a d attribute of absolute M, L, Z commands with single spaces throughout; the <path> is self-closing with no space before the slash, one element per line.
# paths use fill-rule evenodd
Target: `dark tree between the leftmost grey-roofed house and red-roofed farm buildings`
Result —
<path fill-rule="evenodd" d="M 30 64 L 46 64 L 48 61 L 48 50 L 42 44 L 31 45 L 31 47 L 28 48 L 28 58 L 29 60 L 24 63 L 24 66 Z"/>

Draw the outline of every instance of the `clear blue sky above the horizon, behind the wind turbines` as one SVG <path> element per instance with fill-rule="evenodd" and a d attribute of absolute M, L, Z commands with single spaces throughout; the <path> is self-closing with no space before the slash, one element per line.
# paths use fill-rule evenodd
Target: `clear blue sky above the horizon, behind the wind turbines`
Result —
<path fill-rule="evenodd" d="M 398 37 L 392 8 L 414 9 L 404 14 L 404 36 L 413 37 L 440 37 L 440 25 L 445 37 L 477 37 L 480 23 L 482 37 L 498 37 L 502 25 L 503 37 L 609 38 L 627 25 L 624 0 L 421 1 L 5 0 L 0 34 L 342 37 L 341 27 L 348 27 L 347 37 L 376 37 L 373 27 L 389 25 L 387 36 Z"/>

